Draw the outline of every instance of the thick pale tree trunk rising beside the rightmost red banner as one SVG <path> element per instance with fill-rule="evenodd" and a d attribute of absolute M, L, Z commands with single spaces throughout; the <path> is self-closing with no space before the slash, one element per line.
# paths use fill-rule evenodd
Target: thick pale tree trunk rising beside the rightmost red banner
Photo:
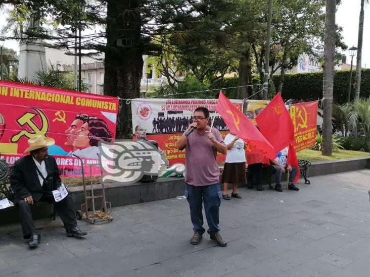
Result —
<path fill-rule="evenodd" d="M 332 112 L 335 51 L 336 0 L 327 0 L 325 20 L 324 72 L 323 72 L 323 123 L 322 155 L 332 155 Z"/>

